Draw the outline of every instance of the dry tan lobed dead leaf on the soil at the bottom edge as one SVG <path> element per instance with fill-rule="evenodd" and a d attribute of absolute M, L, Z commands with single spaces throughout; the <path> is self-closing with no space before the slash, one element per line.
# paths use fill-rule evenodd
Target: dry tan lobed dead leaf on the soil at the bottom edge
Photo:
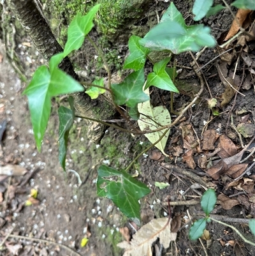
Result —
<path fill-rule="evenodd" d="M 151 220 L 134 234 L 130 243 L 122 241 L 117 246 L 125 249 L 123 256 L 152 256 L 151 246 L 157 238 L 164 248 L 169 247 L 170 241 L 176 240 L 177 233 L 171 232 L 171 223 L 168 223 L 168 218 Z"/>

